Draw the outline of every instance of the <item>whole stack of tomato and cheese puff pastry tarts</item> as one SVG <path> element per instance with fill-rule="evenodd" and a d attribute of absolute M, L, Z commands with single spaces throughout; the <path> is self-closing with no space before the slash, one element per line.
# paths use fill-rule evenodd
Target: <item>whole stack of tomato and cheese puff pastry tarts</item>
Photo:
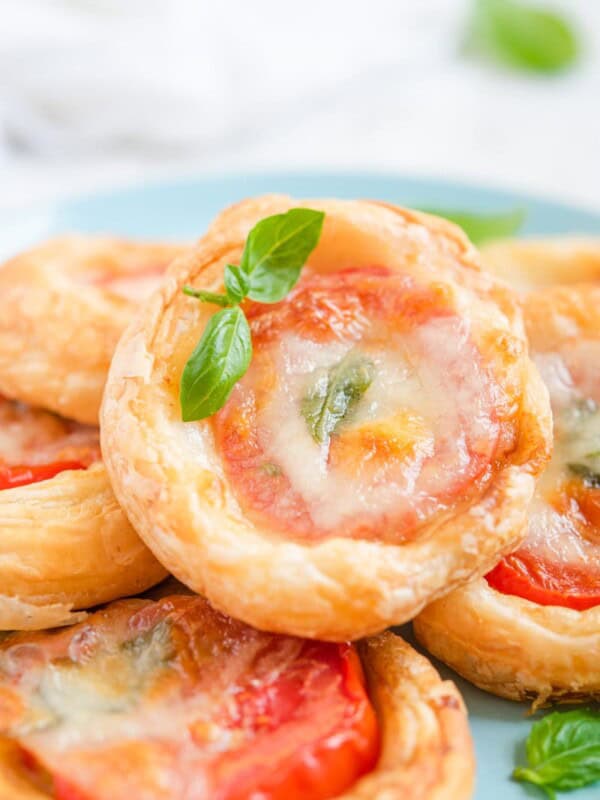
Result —
<path fill-rule="evenodd" d="M 190 293 L 297 206 L 318 244 L 184 422 Z M 439 218 L 282 196 L 0 268 L 0 798 L 468 798 L 460 695 L 386 630 L 415 618 L 489 691 L 599 693 L 600 292 L 492 272 Z"/>

